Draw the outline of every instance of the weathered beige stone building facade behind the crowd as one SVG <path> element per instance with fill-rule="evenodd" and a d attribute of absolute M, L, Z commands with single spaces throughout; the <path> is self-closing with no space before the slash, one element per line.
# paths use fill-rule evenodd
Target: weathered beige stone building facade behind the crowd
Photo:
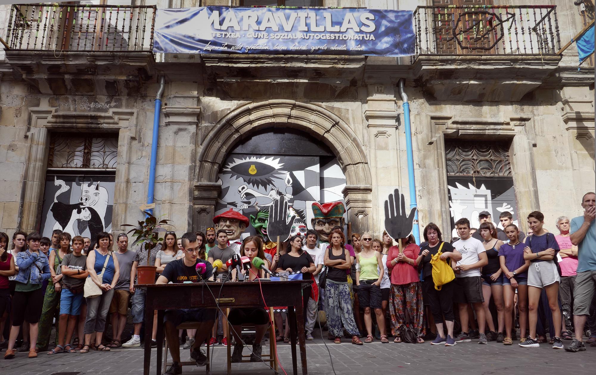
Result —
<path fill-rule="evenodd" d="M 443 2 L 324 0 L 321 5 L 414 10 Z M 585 23 L 571 1 L 536 3 L 557 5 L 560 44 Z M 174 0 L 156 5 L 241 4 Z M 2 5 L 0 17 L 4 36 L 11 22 L 14 27 L 11 7 Z M 107 178 L 113 189 L 107 212 L 113 231 L 142 218 L 154 98 L 158 78 L 164 76 L 155 213 L 172 219 L 179 233 L 212 225 L 221 194 L 218 175 L 234 147 L 257 133 L 292 128 L 336 157 L 346 179 L 341 193 L 352 231 L 380 235 L 384 200 L 395 188 L 407 197 L 411 178 L 400 79 L 405 79 L 411 106 L 421 228 L 436 222 L 450 233 L 452 212 L 462 202 L 456 202 L 449 187 L 488 178 L 487 184 L 511 184 L 516 203 L 511 210 L 523 230 L 527 213 L 541 210 L 554 231 L 554 219 L 578 215 L 583 193 L 594 190 L 591 61 L 578 69 L 573 46 L 562 55 L 461 50 L 403 58 L 6 49 L 0 64 L 0 228 L 9 234 L 40 230 L 51 203 L 47 189 L 58 186 L 52 182 L 56 176 Z M 114 159 L 82 169 L 72 160 L 52 164 L 58 144 L 69 137 L 91 142 L 91 154 L 92 140 L 107 137 L 110 141 L 103 142 L 113 145 L 101 146 L 102 152 Z M 87 152 L 85 145 L 64 147 Z M 478 156 L 482 150 L 488 154 Z M 492 165 L 486 165 L 487 159 Z M 470 202 L 491 200 L 490 193 L 488 198 L 478 191 L 467 194 L 473 197 Z M 496 207 L 500 201 L 493 216 L 498 216 Z M 107 220 L 103 225 L 107 228 Z"/>

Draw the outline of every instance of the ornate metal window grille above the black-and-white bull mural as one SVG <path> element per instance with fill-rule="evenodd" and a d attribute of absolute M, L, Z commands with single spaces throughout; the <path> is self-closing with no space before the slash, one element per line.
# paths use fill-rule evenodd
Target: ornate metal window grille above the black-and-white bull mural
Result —
<path fill-rule="evenodd" d="M 117 156 L 117 137 L 54 133 L 48 168 L 115 169 Z"/>

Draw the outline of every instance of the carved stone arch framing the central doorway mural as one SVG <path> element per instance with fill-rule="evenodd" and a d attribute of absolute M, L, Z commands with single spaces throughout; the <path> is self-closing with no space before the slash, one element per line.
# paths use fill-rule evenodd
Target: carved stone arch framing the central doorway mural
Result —
<path fill-rule="evenodd" d="M 231 111 L 203 141 L 195 163 L 194 228 L 204 229 L 212 224 L 210 218 L 219 194 L 219 184 L 214 181 L 228 151 L 254 131 L 280 126 L 308 132 L 333 151 L 346 175 L 343 194 L 353 231 L 368 227 L 372 178 L 366 153 L 355 132 L 335 114 L 314 104 L 269 100 Z"/>

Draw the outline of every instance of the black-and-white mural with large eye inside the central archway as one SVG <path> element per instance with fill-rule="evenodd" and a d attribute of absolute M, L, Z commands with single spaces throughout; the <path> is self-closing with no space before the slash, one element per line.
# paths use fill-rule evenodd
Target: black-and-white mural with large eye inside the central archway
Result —
<path fill-rule="evenodd" d="M 313 202 L 343 201 L 346 176 L 337 161 L 321 165 L 318 156 L 231 154 L 219 182 L 222 190 L 215 215 L 228 209 L 241 212 L 257 224 L 250 225 L 243 237 L 257 234 L 267 242 L 265 220 L 274 199 L 288 200 L 289 215 L 297 215 L 292 234 L 304 235 L 312 227 Z"/>

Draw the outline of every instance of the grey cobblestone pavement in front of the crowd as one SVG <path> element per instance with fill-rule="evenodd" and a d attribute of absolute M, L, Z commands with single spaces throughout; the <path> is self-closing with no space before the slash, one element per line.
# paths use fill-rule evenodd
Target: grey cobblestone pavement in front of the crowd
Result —
<path fill-rule="evenodd" d="M 341 345 L 325 340 L 331 352 L 337 375 L 340 374 L 594 374 L 596 348 L 569 353 L 542 344 L 540 348 L 520 348 L 518 342 L 504 346 L 495 342 L 477 345 L 476 342 L 456 346 L 432 346 L 428 342 L 415 344 L 381 344 L 376 341 L 364 346 L 351 345 L 343 339 Z M 564 342 L 565 344 L 569 341 Z M 263 345 L 263 353 L 268 346 Z M 187 352 L 188 353 L 188 352 Z M 155 349 L 153 349 L 155 354 Z M 244 349 L 244 354 L 249 354 Z M 330 357 L 323 341 L 315 339 L 307 344 L 308 369 L 312 375 L 333 374 Z M 291 374 L 290 346 L 281 343 L 278 357 L 285 371 Z M 300 363 L 300 360 L 299 360 Z M 141 374 L 143 352 L 141 348 L 115 349 L 111 352 L 89 354 L 40 353 L 36 359 L 26 353 L 4 360 L 0 357 L 2 375 L 83 375 L 83 374 Z M 152 358 L 151 374 L 156 373 L 156 360 Z M 212 374 L 226 373 L 226 350 L 224 346 L 213 349 Z M 283 371 L 280 370 L 281 373 Z M 204 368 L 185 366 L 184 374 L 204 374 Z M 232 374 L 273 374 L 265 364 L 233 364 Z M 299 373 L 302 374 L 299 367 Z"/>

